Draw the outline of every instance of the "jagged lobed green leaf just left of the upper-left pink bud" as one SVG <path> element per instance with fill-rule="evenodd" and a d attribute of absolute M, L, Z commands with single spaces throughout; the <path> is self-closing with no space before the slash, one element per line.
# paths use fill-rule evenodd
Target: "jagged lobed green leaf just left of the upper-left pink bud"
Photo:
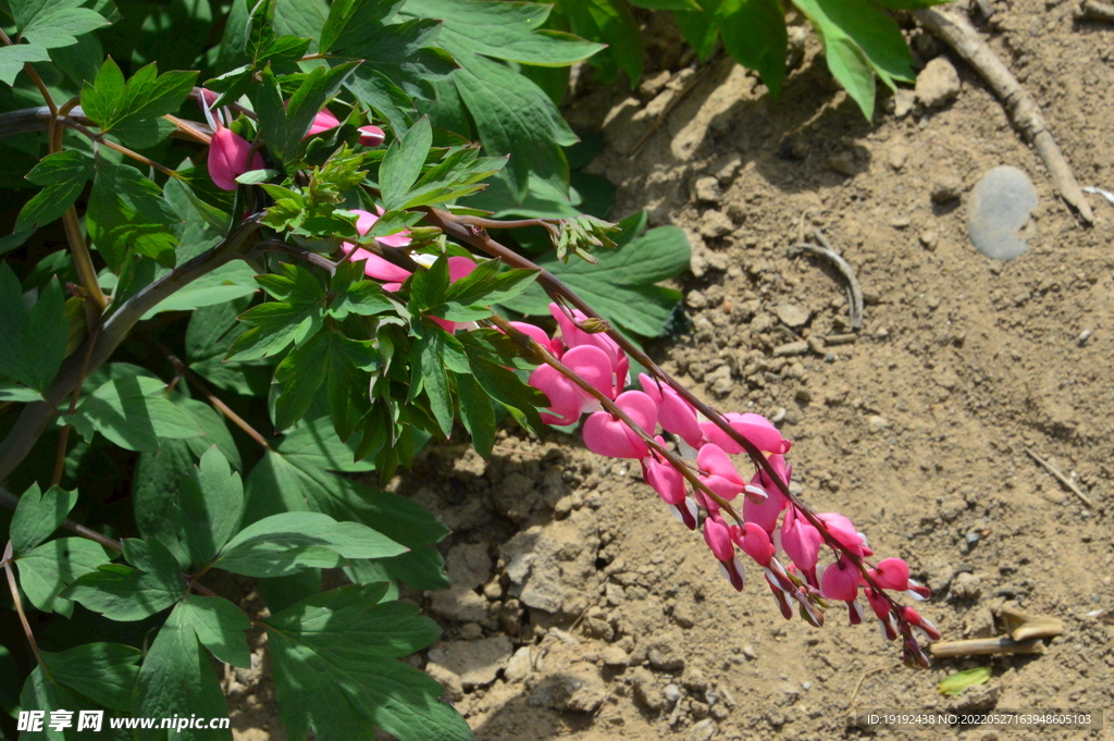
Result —
<path fill-rule="evenodd" d="M 197 72 L 185 70 L 159 75 L 157 65 L 152 62 L 125 82 L 120 68 L 109 57 L 96 79 L 81 89 L 81 108 L 102 134 L 117 126 L 135 127 L 177 110 L 196 79 Z"/>

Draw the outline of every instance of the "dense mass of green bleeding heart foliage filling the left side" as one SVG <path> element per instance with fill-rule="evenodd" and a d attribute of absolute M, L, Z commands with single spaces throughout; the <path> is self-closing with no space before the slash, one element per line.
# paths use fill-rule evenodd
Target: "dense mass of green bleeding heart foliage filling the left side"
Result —
<path fill-rule="evenodd" d="M 398 597 L 402 584 L 449 586 L 437 547 L 448 529 L 373 484 L 430 439 L 470 438 L 489 457 L 500 423 L 543 429 L 547 399 L 525 380 L 536 360 L 491 321 L 494 306 L 541 299 L 537 271 L 481 259 L 431 224 L 536 212 L 544 264 L 609 294 L 608 318 L 646 337 L 677 299 L 654 283 L 687 260 L 673 230 L 635 238 L 636 221 L 616 235 L 604 221 L 613 186 L 569 175 L 577 137 L 537 69 L 560 82 L 604 46 L 557 29 L 550 11 L 0 2 L 13 31 L 0 113 L 72 117 L 56 136 L 9 137 L 13 119 L 0 121 L 0 185 L 28 188 L 0 237 L 2 433 L 14 441 L 27 435 L 14 420 L 42 415 L 31 454 L 6 474 L 23 489 L 7 539 L 30 623 L 65 636 L 18 674 L 23 709 L 227 716 L 213 662 L 250 665 L 254 624 L 293 737 L 470 738 L 438 684 L 399 661 L 438 636 Z M 639 74 L 629 8 L 560 12 L 608 37 L 605 64 Z M 0 456 L 19 447 L 4 440 Z M 102 535 L 60 536 L 89 534 L 75 523 Z M 351 584 L 322 593 L 325 568 Z M 242 594 L 214 596 L 208 585 L 227 579 L 211 572 L 254 581 L 270 617 L 246 614 Z M 16 704 L 0 685 L 0 706 Z"/>

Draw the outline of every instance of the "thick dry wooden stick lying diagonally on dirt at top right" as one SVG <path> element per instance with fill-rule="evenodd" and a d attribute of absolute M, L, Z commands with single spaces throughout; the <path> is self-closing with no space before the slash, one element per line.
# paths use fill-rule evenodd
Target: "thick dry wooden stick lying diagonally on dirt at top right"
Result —
<path fill-rule="evenodd" d="M 978 31 L 957 13 L 927 8 L 912 12 L 925 28 L 951 47 L 986 80 L 1014 126 L 1036 147 L 1061 197 L 1079 213 L 1084 222 L 1093 224 L 1095 216 L 1091 212 L 1091 205 L 1083 196 L 1072 166 L 1067 164 L 1064 153 L 1048 130 L 1040 107 L 986 45 Z"/>

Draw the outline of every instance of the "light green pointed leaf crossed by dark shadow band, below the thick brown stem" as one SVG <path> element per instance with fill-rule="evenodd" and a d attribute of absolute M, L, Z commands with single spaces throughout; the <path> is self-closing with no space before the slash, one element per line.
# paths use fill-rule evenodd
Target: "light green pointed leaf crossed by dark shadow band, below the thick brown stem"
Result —
<path fill-rule="evenodd" d="M 125 376 L 107 381 L 78 404 L 78 419 L 128 450 L 158 450 L 159 438 L 204 435 L 189 415 L 166 398 L 166 386 L 148 376 Z"/>

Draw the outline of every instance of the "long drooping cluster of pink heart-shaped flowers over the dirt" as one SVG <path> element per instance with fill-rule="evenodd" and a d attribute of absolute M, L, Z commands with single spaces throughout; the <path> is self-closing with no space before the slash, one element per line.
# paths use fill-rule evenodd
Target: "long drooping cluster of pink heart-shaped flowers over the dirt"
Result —
<path fill-rule="evenodd" d="M 745 584 L 741 558 L 741 554 L 745 554 L 762 568 L 786 618 L 792 617 L 793 601 L 807 621 L 820 625 L 827 601 L 840 601 L 847 603 L 851 623 L 858 624 L 864 614 L 859 601 L 861 591 L 887 638 L 895 640 L 899 634 L 905 638 L 907 661 L 927 663 L 910 627 L 918 628 L 930 640 L 939 638 L 939 631 L 911 607 L 897 605 L 883 594 L 885 591 L 906 592 L 917 599 L 930 596 L 927 587 L 909 578 L 905 560 L 887 558 L 870 567 L 864 559 L 873 552 L 850 519 L 837 513 L 805 513 L 791 503 L 761 468 L 747 480 L 729 457 L 743 452 L 743 447 L 732 436 L 715 422 L 702 419 L 672 387 L 645 373 L 638 377 L 641 389 L 628 388 L 631 363 L 614 340 L 604 333 L 585 331 L 590 320 L 578 311 L 569 315 L 556 303 L 550 304 L 549 310 L 559 328 L 558 338 L 550 338 L 532 324 L 511 324 L 612 400 L 641 430 L 632 429 L 626 421 L 603 410 L 594 394 L 548 364 L 540 365 L 529 379 L 529 383 L 549 400 L 549 412 L 543 415 L 544 421 L 571 425 L 587 413 L 583 435 L 589 450 L 609 458 L 638 460 L 646 484 L 688 529 L 701 526 L 700 511 L 703 509 L 704 540 L 735 589 L 742 591 Z M 785 454 L 792 442 L 761 415 L 729 412 L 723 417 L 735 432 L 766 456 L 774 472 L 788 486 L 792 467 Z M 656 435 L 654 439 L 664 448 L 665 440 L 657 433 L 658 429 L 673 436 L 683 464 L 702 486 L 686 481 L 681 470 L 647 443 L 646 438 Z M 743 495 L 742 521 L 729 523 L 724 518 L 724 507 L 740 495 Z M 732 515 L 735 515 L 733 508 Z M 825 544 L 836 559 L 818 575 L 820 553 Z"/>

